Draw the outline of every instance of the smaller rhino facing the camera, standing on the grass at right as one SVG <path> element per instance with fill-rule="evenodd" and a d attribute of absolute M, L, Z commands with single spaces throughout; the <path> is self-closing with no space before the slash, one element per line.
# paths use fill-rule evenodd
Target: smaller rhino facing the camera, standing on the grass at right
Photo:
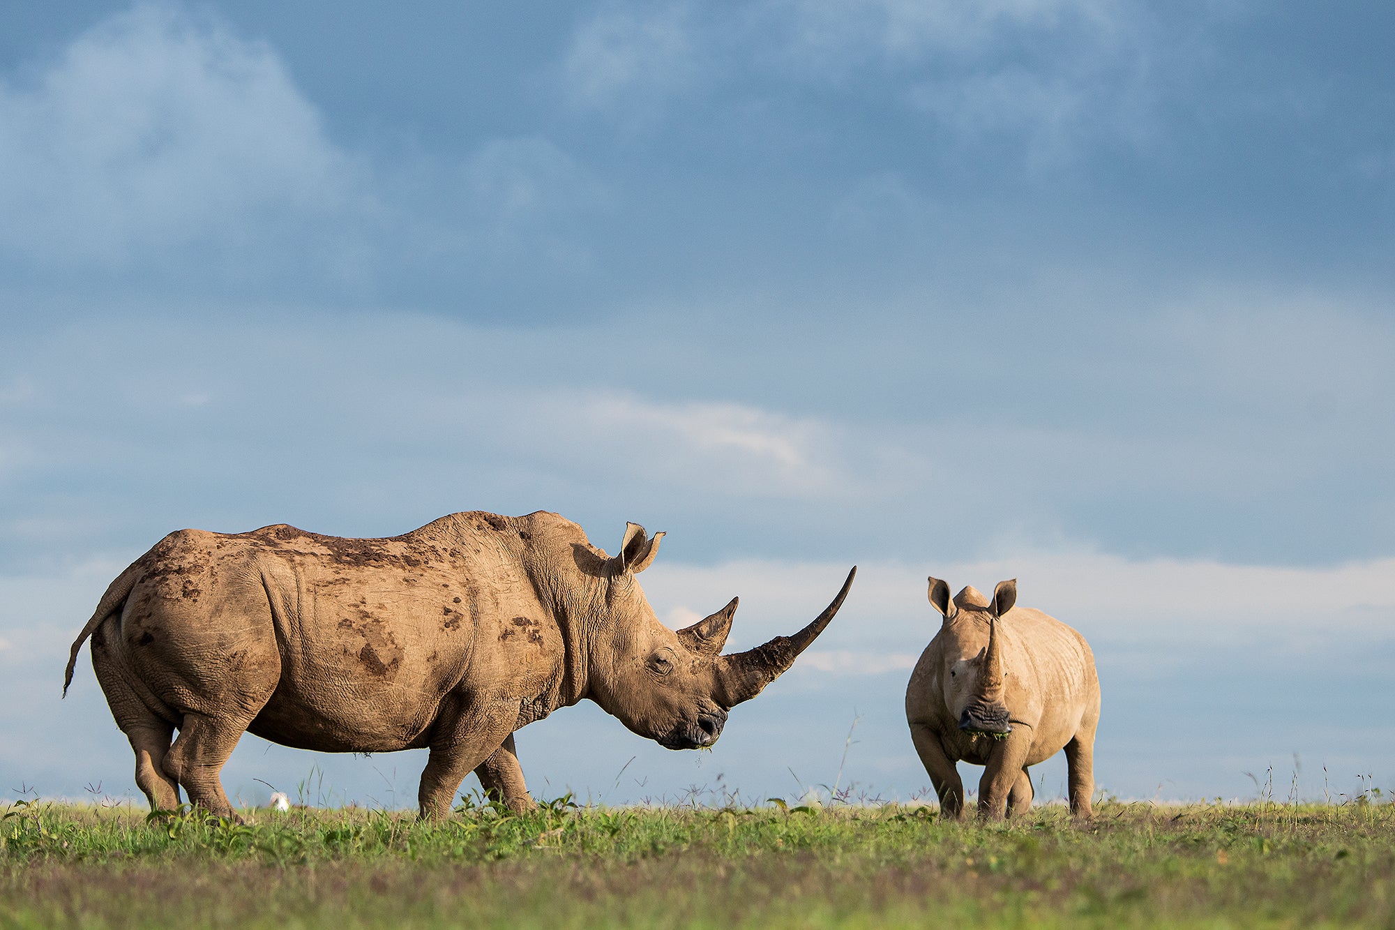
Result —
<path fill-rule="evenodd" d="M 1014 607 L 1016 580 L 999 582 L 992 602 L 974 588 L 951 602 L 947 584 L 929 581 L 944 621 L 911 673 L 905 719 L 943 814 L 964 809 L 958 760 L 983 767 L 978 813 L 996 820 L 1031 807 L 1028 767 L 1064 748 L 1070 810 L 1089 817 L 1099 677 L 1085 638 L 1041 610 Z"/>

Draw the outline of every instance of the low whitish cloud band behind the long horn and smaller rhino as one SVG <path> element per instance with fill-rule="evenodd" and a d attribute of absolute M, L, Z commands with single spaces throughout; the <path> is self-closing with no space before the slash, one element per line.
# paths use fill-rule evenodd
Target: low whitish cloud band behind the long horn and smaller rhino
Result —
<path fill-rule="evenodd" d="M 732 595 L 741 609 L 731 647 L 790 634 L 837 592 L 847 566 L 734 561 L 684 566 L 657 560 L 644 591 L 660 612 L 706 614 Z M 953 591 L 992 591 L 1017 578 L 1018 603 L 1036 607 L 1115 648 L 1177 649 L 1267 644 L 1299 649 L 1335 631 L 1343 640 L 1395 637 L 1395 559 L 1335 567 L 1236 566 L 1207 560 L 1129 560 L 1096 552 L 1034 552 L 910 566 L 869 561 L 817 640 L 819 672 L 875 674 L 910 667 L 937 628 L 926 575 Z M 670 614 L 671 616 L 671 614 Z"/>

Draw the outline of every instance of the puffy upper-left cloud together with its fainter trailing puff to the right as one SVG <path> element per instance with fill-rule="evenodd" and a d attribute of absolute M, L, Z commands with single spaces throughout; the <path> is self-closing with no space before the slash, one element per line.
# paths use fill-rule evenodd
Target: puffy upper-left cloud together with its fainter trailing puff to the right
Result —
<path fill-rule="evenodd" d="M 423 265 L 576 270 L 572 221 L 608 204 L 538 135 L 442 159 L 340 147 L 273 47 L 174 3 L 110 17 L 25 75 L 0 75 L 0 258 L 40 279 L 339 295 Z"/>

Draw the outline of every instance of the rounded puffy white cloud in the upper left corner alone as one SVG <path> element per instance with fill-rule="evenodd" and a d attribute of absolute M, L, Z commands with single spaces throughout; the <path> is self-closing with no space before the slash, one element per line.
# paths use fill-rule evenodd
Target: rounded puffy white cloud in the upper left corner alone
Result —
<path fill-rule="evenodd" d="M 204 237 L 239 247 L 353 204 L 357 166 L 278 56 L 141 4 L 0 84 L 0 247 L 123 268 Z"/>

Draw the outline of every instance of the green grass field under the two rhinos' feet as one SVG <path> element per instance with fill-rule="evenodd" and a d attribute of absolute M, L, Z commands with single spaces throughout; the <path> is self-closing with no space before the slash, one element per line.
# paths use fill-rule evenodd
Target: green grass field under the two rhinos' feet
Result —
<path fill-rule="evenodd" d="M 1395 806 L 4 810 L 3 927 L 1395 926 Z"/>

